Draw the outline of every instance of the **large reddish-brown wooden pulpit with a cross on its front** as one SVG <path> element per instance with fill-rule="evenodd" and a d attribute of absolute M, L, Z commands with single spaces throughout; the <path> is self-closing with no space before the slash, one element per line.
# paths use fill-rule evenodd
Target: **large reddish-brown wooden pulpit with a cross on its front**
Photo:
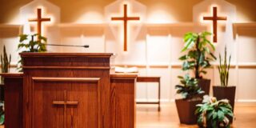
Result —
<path fill-rule="evenodd" d="M 2 74 L 6 128 L 134 128 L 137 75 L 110 74 L 111 55 L 22 53 L 24 73 Z"/>

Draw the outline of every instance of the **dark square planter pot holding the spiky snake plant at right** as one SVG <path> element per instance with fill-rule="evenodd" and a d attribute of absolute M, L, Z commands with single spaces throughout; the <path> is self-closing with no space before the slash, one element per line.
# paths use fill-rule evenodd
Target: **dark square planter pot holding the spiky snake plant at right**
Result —
<path fill-rule="evenodd" d="M 234 112 L 234 98 L 235 98 L 235 86 L 214 86 L 214 97 L 216 97 L 218 100 L 221 99 L 228 99 L 230 101 L 230 105 L 233 108 Z M 230 118 L 230 122 L 233 122 L 233 118 Z"/>

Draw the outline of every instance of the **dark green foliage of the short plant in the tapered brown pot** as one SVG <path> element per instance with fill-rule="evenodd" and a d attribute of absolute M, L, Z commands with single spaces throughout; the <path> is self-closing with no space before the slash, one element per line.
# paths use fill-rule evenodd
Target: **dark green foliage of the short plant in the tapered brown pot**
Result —
<path fill-rule="evenodd" d="M 198 80 L 196 78 L 190 78 L 189 74 L 186 74 L 184 77 L 178 76 L 178 78 L 180 78 L 182 85 L 176 85 L 175 89 L 177 90 L 177 94 L 182 94 L 182 98 L 199 98 L 199 94 L 204 93 L 204 91 L 202 91 L 198 86 Z"/>

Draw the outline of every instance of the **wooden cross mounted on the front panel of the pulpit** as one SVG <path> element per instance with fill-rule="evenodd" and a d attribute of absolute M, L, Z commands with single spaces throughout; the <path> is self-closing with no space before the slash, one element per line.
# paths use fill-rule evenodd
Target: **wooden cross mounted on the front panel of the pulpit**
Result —
<path fill-rule="evenodd" d="M 54 106 L 64 106 L 64 123 L 66 123 L 66 118 L 67 118 L 67 106 L 78 106 L 78 102 L 70 102 L 67 101 L 67 94 L 66 90 L 64 90 L 64 101 L 53 101 Z M 64 128 L 66 128 L 66 125 L 64 125 Z"/>

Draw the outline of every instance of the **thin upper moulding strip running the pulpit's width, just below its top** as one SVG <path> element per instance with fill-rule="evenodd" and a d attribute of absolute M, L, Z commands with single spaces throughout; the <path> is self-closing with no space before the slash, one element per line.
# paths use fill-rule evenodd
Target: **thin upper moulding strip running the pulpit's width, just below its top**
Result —
<path fill-rule="evenodd" d="M 23 69 L 110 70 L 110 66 L 23 66 Z"/>

